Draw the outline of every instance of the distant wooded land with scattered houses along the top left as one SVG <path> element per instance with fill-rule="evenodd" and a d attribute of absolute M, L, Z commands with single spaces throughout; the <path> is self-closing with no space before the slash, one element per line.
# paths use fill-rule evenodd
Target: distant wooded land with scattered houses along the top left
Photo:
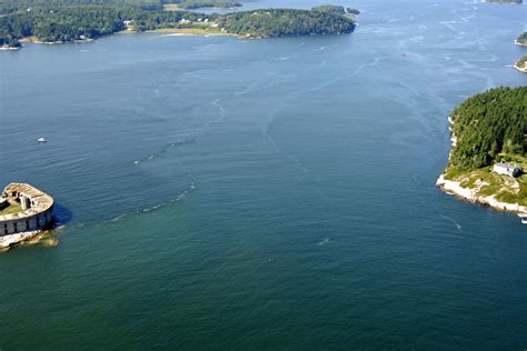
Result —
<path fill-rule="evenodd" d="M 311 10 L 268 9 L 205 14 L 165 11 L 166 3 L 168 1 L 163 0 L 0 0 L 0 47 L 17 49 L 27 38 L 37 42 L 62 43 L 92 40 L 121 31 L 150 30 L 240 38 L 342 34 L 354 31 L 358 13 L 350 8 L 325 6 Z"/>

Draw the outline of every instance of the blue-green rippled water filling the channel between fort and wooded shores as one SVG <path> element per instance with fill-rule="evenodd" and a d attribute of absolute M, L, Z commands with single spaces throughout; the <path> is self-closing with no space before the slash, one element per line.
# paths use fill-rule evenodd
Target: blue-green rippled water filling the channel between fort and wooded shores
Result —
<path fill-rule="evenodd" d="M 0 183 L 62 227 L 0 255 L 0 349 L 525 349 L 526 228 L 435 181 L 454 107 L 526 84 L 526 7 L 352 6 L 350 36 L 1 53 Z"/>

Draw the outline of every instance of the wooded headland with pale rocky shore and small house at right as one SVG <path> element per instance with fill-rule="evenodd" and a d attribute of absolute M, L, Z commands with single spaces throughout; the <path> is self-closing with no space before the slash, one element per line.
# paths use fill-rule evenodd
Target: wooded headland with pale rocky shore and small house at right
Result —
<path fill-rule="evenodd" d="M 527 87 L 474 96 L 450 117 L 453 150 L 437 184 L 474 202 L 501 210 L 527 205 Z M 499 174 L 504 163 L 523 172 Z"/>

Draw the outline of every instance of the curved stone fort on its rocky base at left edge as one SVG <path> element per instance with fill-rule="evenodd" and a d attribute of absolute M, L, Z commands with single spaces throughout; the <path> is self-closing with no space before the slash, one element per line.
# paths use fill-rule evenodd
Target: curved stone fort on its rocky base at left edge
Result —
<path fill-rule="evenodd" d="M 53 224 L 53 199 L 27 183 L 11 183 L 0 197 L 0 249 L 38 240 Z"/>

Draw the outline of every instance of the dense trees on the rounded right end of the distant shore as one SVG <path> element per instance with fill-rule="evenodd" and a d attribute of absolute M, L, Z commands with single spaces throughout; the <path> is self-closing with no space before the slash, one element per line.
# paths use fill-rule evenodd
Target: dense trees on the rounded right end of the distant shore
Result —
<path fill-rule="evenodd" d="M 228 32 L 250 37 L 340 34 L 355 29 L 355 21 L 334 11 L 269 9 L 220 17 Z"/>

